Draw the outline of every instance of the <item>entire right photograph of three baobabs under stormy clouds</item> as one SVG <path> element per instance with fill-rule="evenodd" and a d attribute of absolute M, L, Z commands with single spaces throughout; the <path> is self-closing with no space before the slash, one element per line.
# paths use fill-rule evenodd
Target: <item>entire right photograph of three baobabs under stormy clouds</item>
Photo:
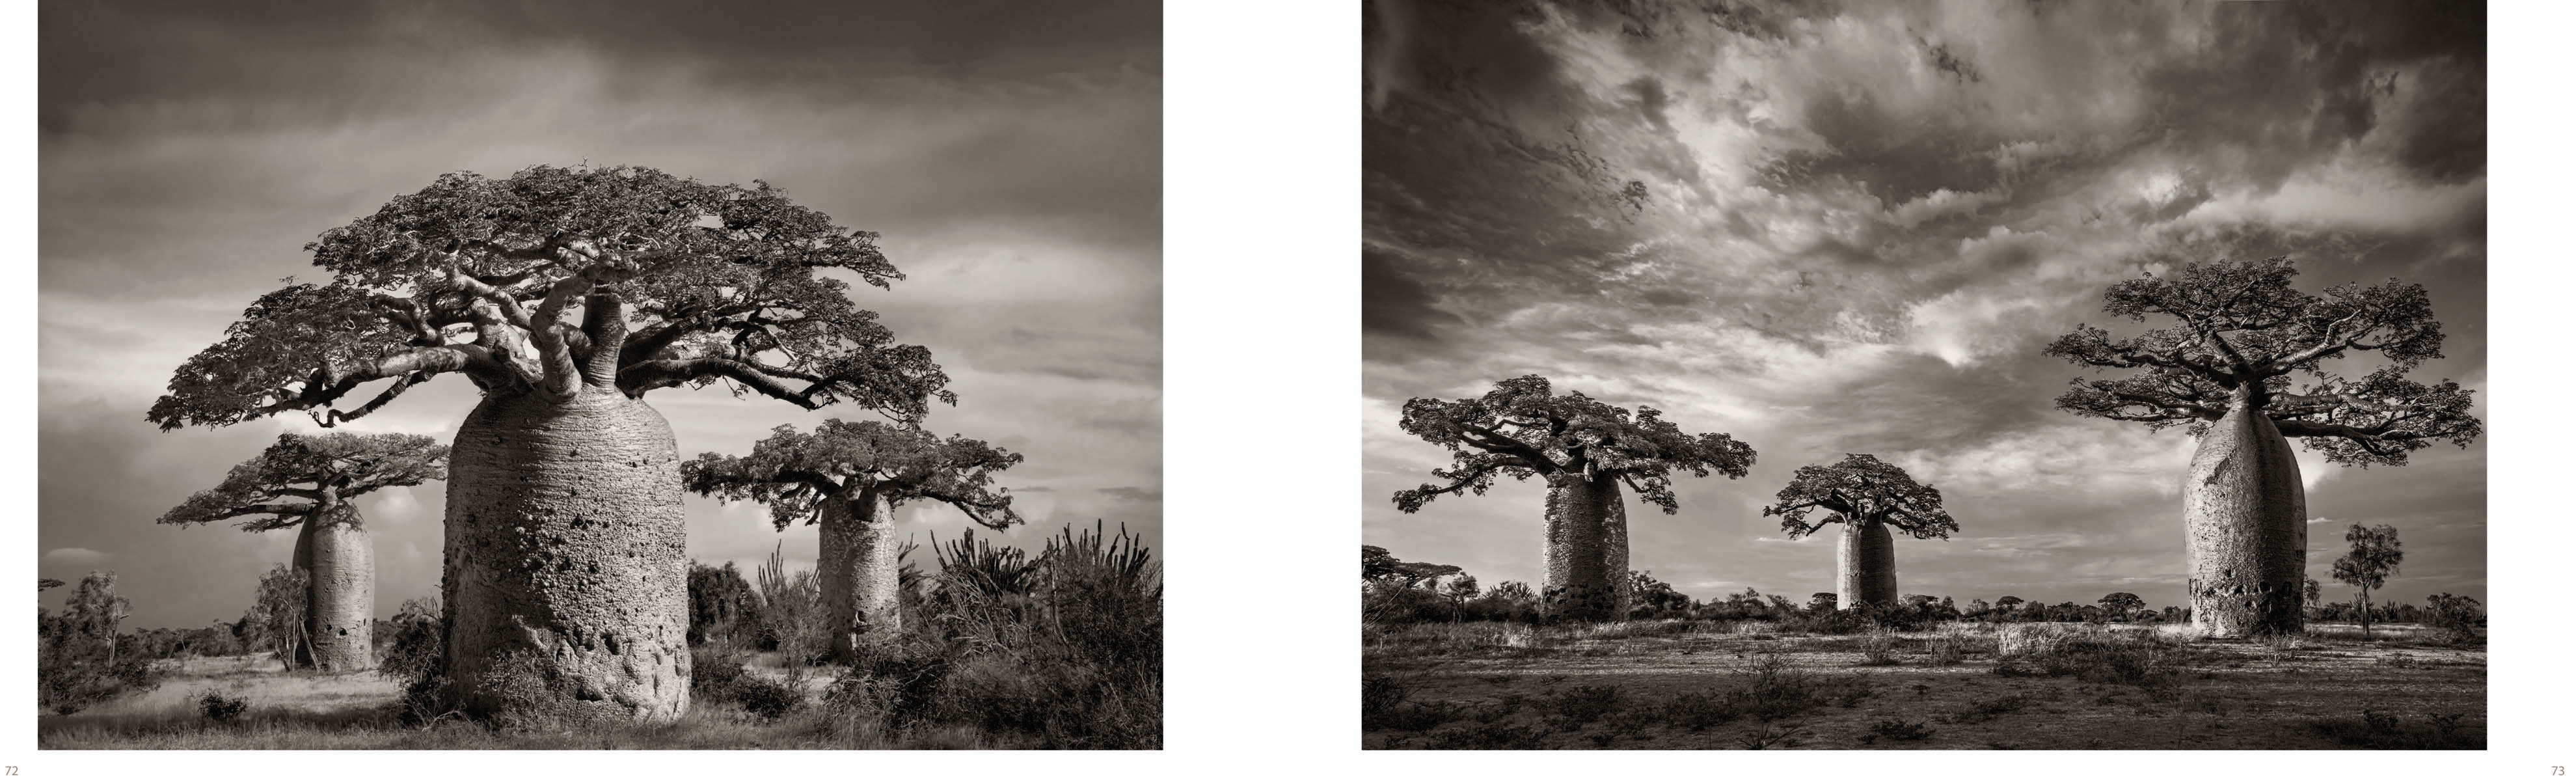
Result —
<path fill-rule="evenodd" d="M 1363 747 L 2486 747 L 2483 5 L 1363 13 Z"/>

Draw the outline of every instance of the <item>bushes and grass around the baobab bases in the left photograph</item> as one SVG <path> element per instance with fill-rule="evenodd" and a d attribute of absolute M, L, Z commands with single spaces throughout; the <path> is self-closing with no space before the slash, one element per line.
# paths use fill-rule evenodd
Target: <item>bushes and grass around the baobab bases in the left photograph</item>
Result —
<path fill-rule="evenodd" d="M 567 729 L 438 711 L 438 608 L 407 603 L 381 621 L 381 670 L 299 670 L 283 647 L 155 660 L 137 686 L 44 709 L 39 747 L 1162 745 L 1162 577 L 1133 534 L 1066 528 L 1036 554 L 963 536 L 935 559 L 935 572 L 904 567 L 909 629 L 855 665 L 824 662 L 811 572 L 773 559 L 752 588 L 732 567 L 698 567 L 690 711 L 675 724 Z M 103 662 L 67 670 L 93 668 Z"/>

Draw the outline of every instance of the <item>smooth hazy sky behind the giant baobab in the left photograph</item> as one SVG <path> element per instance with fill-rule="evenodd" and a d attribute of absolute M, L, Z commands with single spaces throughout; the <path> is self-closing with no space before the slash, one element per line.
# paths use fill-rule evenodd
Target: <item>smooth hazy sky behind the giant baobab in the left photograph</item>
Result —
<path fill-rule="evenodd" d="M 765 178 L 884 235 L 909 278 L 858 286 L 930 345 L 940 433 L 1002 477 L 1036 544 L 1105 518 L 1162 541 L 1162 26 L 1154 3 L 49 3 L 39 77 L 39 572 L 116 570 L 134 626 L 247 608 L 291 534 L 155 526 L 301 415 L 160 433 L 144 410 L 299 247 L 448 170 L 652 165 Z M 801 412 L 654 392 L 683 454 Z M 453 436 L 440 379 L 355 425 Z M 443 485 L 361 503 L 376 611 L 438 588 Z M 927 539 L 969 523 L 907 510 Z M 688 552 L 752 564 L 814 528 L 690 497 Z M 41 598 L 59 606 L 62 593 Z"/>

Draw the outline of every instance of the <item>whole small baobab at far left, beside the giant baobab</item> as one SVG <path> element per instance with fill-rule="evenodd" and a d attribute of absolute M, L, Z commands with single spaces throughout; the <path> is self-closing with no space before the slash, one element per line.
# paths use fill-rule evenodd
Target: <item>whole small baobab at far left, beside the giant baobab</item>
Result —
<path fill-rule="evenodd" d="M 332 673 L 376 668 L 376 546 L 358 497 L 448 477 L 448 446 L 412 433 L 286 433 L 224 482 L 191 495 L 160 523 L 234 521 L 242 531 L 296 531 L 304 572 L 307 662 Z"/>

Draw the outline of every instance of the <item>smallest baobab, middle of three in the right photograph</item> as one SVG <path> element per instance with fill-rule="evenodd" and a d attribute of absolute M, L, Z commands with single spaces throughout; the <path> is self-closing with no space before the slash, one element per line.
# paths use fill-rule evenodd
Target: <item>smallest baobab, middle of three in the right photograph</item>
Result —
<path fill-rule="evenodd" d="M 1832 516 L 1808 523 L 1816 510 Z M 1844 454 L 1832 467 L 1798 467 L 1780 500 L 1762 508 L 1762 516 L 1780 516 L 1788 539 L 1842 521 L 1834 562 L 1844 608 L 1896 603 L 1896 536 L 1888 528 L 1914 539 L 1950 539 L 1958 531 L 1958 521 L 1940 505 L 1940 490 L 1917 485 L 1906 469 L 1868 454 Z"/>

